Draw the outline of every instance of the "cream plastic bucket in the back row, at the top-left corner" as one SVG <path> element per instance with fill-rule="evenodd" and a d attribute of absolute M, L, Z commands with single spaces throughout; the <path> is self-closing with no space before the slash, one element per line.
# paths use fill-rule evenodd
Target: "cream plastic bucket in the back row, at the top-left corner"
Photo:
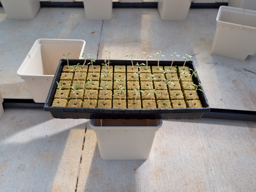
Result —
<path fill-rule="evenodd" d="M 39 0 L 1 0 L 9 19 L 34 19 L 40 9 Z"/>

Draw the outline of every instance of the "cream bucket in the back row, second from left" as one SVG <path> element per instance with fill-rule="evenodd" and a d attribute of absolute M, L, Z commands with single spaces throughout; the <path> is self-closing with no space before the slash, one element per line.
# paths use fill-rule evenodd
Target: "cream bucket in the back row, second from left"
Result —
<path fill-rule="evenodd" d="M 88 20 L 111 20 L 112 0 L 84 0 L 84 10 Z"/>

